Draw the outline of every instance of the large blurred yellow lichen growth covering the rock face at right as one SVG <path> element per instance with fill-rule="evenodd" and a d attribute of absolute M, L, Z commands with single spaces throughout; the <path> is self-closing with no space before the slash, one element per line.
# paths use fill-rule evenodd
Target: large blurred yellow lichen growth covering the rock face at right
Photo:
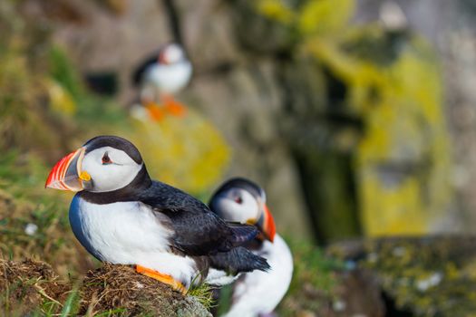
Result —
<path fill-rule="evenodd" d="M 256 3 L 259 14 L 291 30 L 296 52 L 342 83 L 345 115 L 362 120 L 351 149 L 364 233 L 431 232 L 434 222 L 448 216 L 451 198 L 438 61 L 410 30 L 349 27 L 354 7 L 353 0 Z M 340 113 L 342 105 L 330 102 L 330 113 Z M 336 142 L 349 140 L 347 131 L 339 133 Z"/>

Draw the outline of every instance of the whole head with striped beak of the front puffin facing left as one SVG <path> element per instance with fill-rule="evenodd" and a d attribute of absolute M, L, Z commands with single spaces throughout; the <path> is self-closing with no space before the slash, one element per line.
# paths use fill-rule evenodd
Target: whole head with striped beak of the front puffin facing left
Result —
<path fill-rule="evenodd" d="M 110 192 L 128 186 L 143 168 L 141 153 L 130 141 L 99 136 L 58 161 L 45 187 Z"/>

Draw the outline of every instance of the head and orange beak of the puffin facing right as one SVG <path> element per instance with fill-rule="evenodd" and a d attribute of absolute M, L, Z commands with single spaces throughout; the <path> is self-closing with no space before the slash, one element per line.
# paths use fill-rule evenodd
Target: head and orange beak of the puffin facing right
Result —
<path fill-rule="evenodd" d="M 209 207 L 225 220 L 257 226 L 273 242 L 276 226 L 266 205 L 266 193 L 251 180 L 229 179 L 211 197 Z"/>

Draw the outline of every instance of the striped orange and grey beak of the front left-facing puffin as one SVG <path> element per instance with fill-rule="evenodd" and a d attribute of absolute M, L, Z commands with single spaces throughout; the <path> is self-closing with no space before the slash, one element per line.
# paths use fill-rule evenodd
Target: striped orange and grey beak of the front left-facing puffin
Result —
<path fill-rule="evenodd" d="M 83 190 L 83 181 L 91 180 L 87 172 L 81 171 L 85 150 L 85 148 L 77 149 L 60 159 L 48 175 L 44 187 L 71 191 Z"/>

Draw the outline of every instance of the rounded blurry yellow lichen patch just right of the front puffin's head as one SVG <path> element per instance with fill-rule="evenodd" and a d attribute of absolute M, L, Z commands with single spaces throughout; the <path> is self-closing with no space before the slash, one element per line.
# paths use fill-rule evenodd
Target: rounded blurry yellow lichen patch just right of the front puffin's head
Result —
<path fill-rule="evenodd" d="M 229 149 L 218 130 L 199 113 L 133 120 L 130 139 L 141 150 L 152 178 L 193 193 L 219 183 Z"/>

